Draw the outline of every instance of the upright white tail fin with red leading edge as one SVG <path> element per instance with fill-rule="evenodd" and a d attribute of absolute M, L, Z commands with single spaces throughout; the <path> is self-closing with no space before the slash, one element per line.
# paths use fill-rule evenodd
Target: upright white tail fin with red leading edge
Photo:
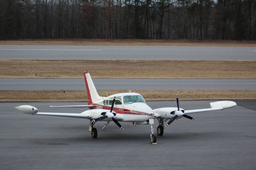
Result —
<path fill-rule="evenodd" d="M 96 103 L 98 100 L 103 98 L 98 95 L 98 92 L 94 86 L 94 83 L 92 82 L 92 78 L 88 70 L 84 71 L 84 81 L 87 90 L 88 105 L 92 105 L 92 103 Z"/>

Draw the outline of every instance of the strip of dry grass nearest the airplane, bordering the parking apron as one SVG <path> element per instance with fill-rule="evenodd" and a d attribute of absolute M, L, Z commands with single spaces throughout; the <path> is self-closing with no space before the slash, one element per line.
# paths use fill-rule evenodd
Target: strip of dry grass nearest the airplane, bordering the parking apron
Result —
<path fill-rule="evenodd" d="M 109 95 L 124 93 L 124 90 L 106 90 Z M 234 100 L 256 99 L 256 90 L 132 90 L 140 93 L 146 101 L 172 101 L 176 94 L 182 100 Z M 99 95 L 106 96 L 105 90 L 98 90 Z M 0 90 L 0 102 L 71 102 L 87 101 L 85 90 Z"/>

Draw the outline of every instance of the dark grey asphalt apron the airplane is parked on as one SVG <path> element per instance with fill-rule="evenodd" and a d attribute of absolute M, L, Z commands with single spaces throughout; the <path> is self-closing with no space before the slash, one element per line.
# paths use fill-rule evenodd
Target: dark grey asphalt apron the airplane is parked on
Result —
<path fill-rule="evenodd" d="M 180 101 L 183 109 L 209 107 L 211 101 Z M 110 123 L 98 138 L 88 132 L 89 120 L 31 116 L 0 103 L 0 169 L 135 169 L 254 170 L 256 167 L 256 101 L 236 101 L 223 111 L 195 113 L 179 119 L 148 144 L 150 127 Z M 44 112 L 80 113 L 83 109 L 48 108 L 84 103 L 29 103 Z M 175 101 L 148 102 L 152 108 Z M 155 120 L 155 123 L 157 121 Z M 154 125 L 156 128 L 157 125 Z"/>

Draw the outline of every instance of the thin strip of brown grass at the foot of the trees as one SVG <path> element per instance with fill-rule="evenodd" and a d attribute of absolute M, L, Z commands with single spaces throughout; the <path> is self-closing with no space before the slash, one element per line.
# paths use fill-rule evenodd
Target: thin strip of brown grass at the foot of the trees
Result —
<path fill-rule="evenodd" d="M 237 40 L 138 40 L 138 39 L 21 39 L 0 40 L 0 45 L 124 45 L 256 47 L 256 41 Z"/>

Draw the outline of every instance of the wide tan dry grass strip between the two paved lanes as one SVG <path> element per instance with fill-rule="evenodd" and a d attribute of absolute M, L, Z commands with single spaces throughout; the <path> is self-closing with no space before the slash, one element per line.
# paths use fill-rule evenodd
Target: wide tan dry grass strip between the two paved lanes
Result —
<path fill-rule="evenodd" d="M 92 78 L 256 78 L 256 61 L 0 60 L 0 78 L 82 78 L 86 69 Z"/>

